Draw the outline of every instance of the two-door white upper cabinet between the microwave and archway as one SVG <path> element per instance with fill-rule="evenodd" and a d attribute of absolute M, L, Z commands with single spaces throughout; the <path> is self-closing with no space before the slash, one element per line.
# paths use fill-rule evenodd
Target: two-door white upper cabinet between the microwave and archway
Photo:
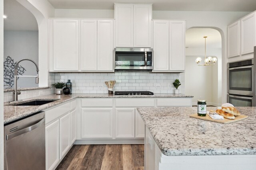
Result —
<path fill-rule="evenodd" d="M 153 72 L 184 72 L 185 21 L 154 20 Z"/>

